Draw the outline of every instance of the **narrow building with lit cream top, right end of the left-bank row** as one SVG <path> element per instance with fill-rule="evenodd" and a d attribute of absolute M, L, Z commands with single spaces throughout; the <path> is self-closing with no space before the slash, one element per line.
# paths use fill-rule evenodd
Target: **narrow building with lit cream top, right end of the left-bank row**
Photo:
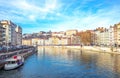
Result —
<path fill-rule="evenodd" d="M 17 26 L 15 31 L 16 31 L 16 44 L 22 45 L 22 28 L 20 26 Z"/>

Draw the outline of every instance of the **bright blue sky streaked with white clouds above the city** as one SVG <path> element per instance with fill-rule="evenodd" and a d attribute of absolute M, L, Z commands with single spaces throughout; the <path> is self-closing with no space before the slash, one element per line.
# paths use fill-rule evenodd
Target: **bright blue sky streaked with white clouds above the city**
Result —
<path fill-rule="evenodd" d="M 120 0 L 0 0 L 0 20 L 23 33 L 108 28 L 120 22 Z"/>

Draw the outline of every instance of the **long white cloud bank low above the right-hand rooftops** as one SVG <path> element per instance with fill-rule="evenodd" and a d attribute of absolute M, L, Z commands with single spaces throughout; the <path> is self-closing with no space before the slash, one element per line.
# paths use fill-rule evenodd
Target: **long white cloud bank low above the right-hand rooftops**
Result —
<path fill-rule="evenodd" d="M 77 12 L 77 11 L 76 11 Z M 89 11 L 90 12 L 90 11 Z M 79 15 L 81 14 L 81 15 Z M 120 22 L 120 10 L 119 8 L 112 7 L 98 9 L 96 13 L 86 13 L 83 11 L 79 11 L 74 14 L 74 16 L 67 17 L 67 20 L 62 23 L 58 23 L 54 25 L 55 29 L 60 30 L 68 30 L 68 29 L 95 29 L 97 27 L 106 27 L 108 28 L 110 25 L 114 25 Z M 83 15 L 83 16 L 82 16 Z"/>

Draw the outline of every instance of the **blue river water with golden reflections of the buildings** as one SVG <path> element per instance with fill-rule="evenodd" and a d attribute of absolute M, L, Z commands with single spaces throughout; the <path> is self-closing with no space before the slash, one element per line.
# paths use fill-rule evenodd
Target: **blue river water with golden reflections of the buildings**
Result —
<path fill-rule="evenodd" d="M 25 64 L 0 78 L 120 78 L 120 55 L 39 47 Z"/>

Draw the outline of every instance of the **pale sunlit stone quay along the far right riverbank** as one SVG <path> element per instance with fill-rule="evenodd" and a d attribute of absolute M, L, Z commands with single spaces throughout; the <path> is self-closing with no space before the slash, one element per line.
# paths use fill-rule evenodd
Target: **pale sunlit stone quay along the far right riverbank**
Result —
<path fill-rule="evenodd" d="M 43 46 L 39 46 L 43 47 Z M 110 48 L 110 47 L 99 47 L 99 46 L 44 46 L 44 47 L 60 47 L 67 49 L 78 49 L 82 51 L 93 51 L 93 52 L 103 52 L 111 54 L 120 54 L 120 48 Z"/>

